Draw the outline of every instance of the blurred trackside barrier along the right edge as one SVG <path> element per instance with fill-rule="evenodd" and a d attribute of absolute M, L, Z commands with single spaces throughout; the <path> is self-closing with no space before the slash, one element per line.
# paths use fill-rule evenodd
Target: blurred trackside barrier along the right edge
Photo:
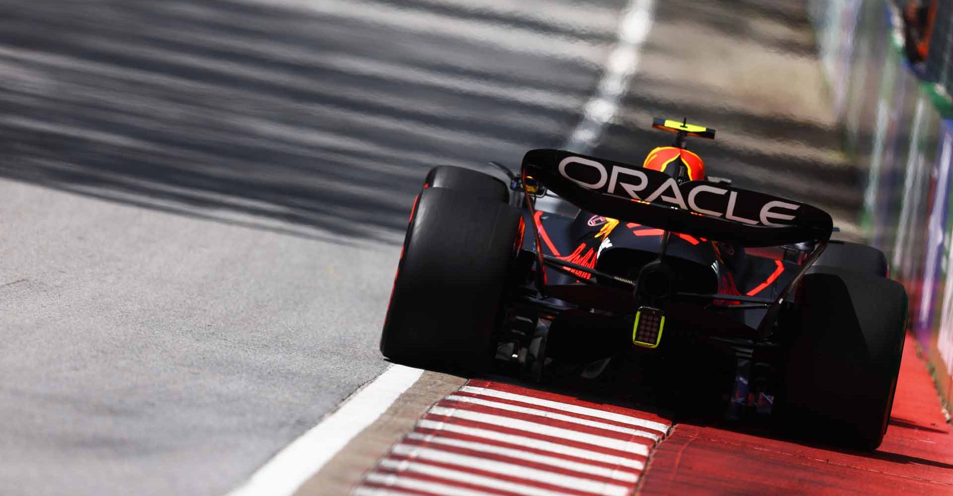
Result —
<path fill-rule="evenodd" d="M 943 9 L 947 4 L 953 0 L 943 0 Z M 844 150 L 866 169 L 862 230 L 886 254 L 890 276 L 907 288 L 910 331 L 949 405 L 953 108 L 945 77 L 928 75 L 948 72 L 935 68 L 938 40 L 931 41 L 932 62 L 913 66 L 903 52 L 901 10 L 895 4 L 811 0 L 809 9 Z M 940 38 L 943 50 L 950 48 L 945 38 Z"/>

